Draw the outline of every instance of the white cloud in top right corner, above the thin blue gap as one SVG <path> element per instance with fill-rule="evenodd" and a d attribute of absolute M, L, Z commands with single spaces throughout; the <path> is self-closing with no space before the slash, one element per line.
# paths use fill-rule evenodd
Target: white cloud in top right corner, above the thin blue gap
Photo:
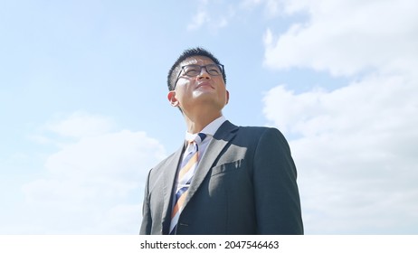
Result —
<path fill-rule="evenodd" d="M 265 64 L 271 68 L 350 76 L 365 70 L 412 71 L 418 65 L 416 1 L 290 3 L 285 5 L 289 13 L 305 11 L 310 19 L 294 23 L 276 42 L 265 41 Z"/>

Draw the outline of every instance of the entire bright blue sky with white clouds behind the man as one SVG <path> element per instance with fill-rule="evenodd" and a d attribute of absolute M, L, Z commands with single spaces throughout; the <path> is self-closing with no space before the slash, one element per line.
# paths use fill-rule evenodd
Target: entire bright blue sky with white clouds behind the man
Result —
<path fill-rule="evenodd" d="M 275 126 L 307 234 L 416 234 L 414 1 L 0 1 L 0 234 L 137 234 L 182 143 L 179 53 L 223 62 L 236 125 Z"/>

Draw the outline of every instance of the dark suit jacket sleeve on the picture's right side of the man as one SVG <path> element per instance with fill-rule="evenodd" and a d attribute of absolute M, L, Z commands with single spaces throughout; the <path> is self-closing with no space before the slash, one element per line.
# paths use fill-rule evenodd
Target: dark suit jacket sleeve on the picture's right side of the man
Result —
<path fill-rule="evenodd" d="M 279 130 L 261 135 L 253 166 L 258 233 L 303 234 L 296 166 Z"/>

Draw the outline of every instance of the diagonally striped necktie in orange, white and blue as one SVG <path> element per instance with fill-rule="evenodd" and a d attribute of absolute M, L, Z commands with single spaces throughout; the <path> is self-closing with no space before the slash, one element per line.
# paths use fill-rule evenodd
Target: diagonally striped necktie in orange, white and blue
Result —
<path fill-rule="evenodd" d="M 195 174 L 195 168 L 199 163 L 199 147 L 206 135 L 199 133 L 195 140 L 187 142 L 187 148 L 185 149 L 185 155 L 183 155 L 183 161 L 177 176 L 177 189 L 176 189 L 176 201 L 171 213 L 170 235 L 176 234 L 177 222 L 180 217 L 181 211 L 183 211 L 183 204 L 185 203 L 185 197 L 187 196 L 187 190 L 192 182 L 193 175 Z M 188 153 L 187 150 L 190 150 Z"/>

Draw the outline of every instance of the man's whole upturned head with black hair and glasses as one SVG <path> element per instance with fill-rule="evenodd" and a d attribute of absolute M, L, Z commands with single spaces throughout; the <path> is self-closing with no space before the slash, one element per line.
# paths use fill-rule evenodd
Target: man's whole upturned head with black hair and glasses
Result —
<path fill-rule="evenodd" d="M 177 59 L 167 76 L 168 100 L 187 117 L 222 114 L 228 103 L 223 65 L 202 48 L 189 49 Z"/>

